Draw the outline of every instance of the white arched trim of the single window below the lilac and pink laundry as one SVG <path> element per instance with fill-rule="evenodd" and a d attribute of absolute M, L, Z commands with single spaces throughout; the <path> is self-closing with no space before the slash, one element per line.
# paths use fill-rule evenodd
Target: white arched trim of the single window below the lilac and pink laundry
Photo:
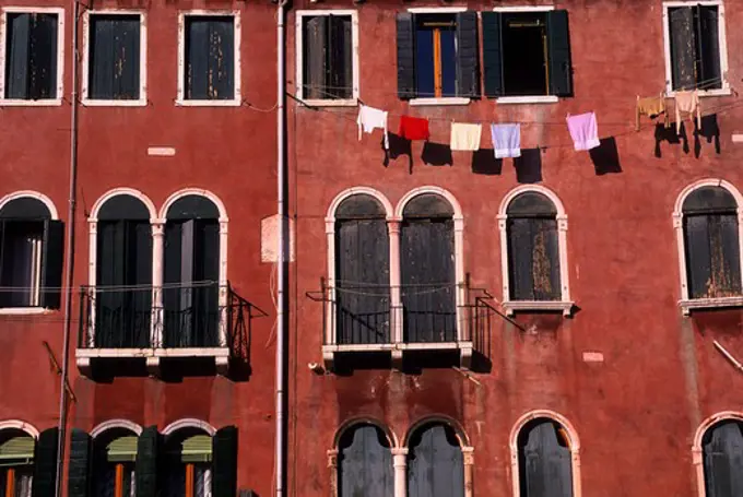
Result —
<path fill-rule="evenodd" d="M 510 258 L 510 255 L 508 253 L 508 205 L 518 196 L 530 191 L 546 197 L 557 210 L 555 218 L 557 221 L 557 250 L 559 251 L 559 300 L 514 300 L 510 297 L 510 272 L 508 269 Z M 500 234 L 500 272 L 503 279 L 502 307 L 506 313 L 512 316 L 517 311 L 559 310 L 563 312 L 563 316 L 570 316 L 575 303 L 570 300 L 569 271 L 567 265 L 567 214 L 559 198 L 549 188 L 539 185 L 523 185 L 514 188 L 506 197 L 504 197 L 498 209 L 497 218 L 498 232 Z"/>

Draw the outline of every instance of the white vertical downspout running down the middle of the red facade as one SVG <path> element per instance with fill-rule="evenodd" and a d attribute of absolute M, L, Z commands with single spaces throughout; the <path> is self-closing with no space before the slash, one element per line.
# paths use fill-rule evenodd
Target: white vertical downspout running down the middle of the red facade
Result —
<path fill-rule="evenodd" d="M 284 63 L 285 43 L 284 43 L 284 8 L 286 0 L 279 0 L 276 12 L 276 208 L 279 215 L 279 251 L 276 257 L 276 497 L 284 496 L 284 469 L 286 468 L 286 451 L 284 450 L 284 411 L 286 406 L 284 383 L 284 371 L 286 370 L 285 336 L 286 336 L 286 161 L 285 151 L 285 115 L 284 115 L 284 87 L 285 73 Z"/>

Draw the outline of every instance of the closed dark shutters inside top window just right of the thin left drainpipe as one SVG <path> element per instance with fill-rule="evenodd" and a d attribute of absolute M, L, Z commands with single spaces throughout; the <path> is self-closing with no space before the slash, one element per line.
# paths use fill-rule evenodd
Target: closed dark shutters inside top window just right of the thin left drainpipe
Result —
<path fill-rule="evenodd" d="M 91 14 L 84 97 L 91 100 L 142 98 L 142 47 L 141 14 Z"/>

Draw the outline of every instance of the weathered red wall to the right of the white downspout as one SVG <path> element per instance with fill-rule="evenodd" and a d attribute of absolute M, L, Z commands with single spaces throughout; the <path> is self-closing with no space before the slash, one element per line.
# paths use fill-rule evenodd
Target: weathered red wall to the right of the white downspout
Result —
<path fill-rule="evenodd" d="M 396 96 L 394 23 L 396 13 L 410 7 L 440 5 L 353 5 L 359 24 L 361 98 L 394 115 L 446 119 L 431 123 L 432 141 L 438 143 L 448 143 L 449 120 L 530 122 L 521 128 L 522 146 L 546 147 L 541 185 L 567 210 L 570 293 L 579 311 L 571 319 L 519 318 L 528 333 L 506 321 L 496 324 L 488 351 L 493 369 L 474 374 L 480 384 L 456 370 L 309 371 L 307 363 L 321 360 L 322 323 L 321 305 L 305 293 L 319 289 L 320 277 L 327 275 L 325 216 L 339 192 L 368 186 L 394 205 L 415 187 L 446 188 L 464 213 L 465 272 L 473 286 L 488 288 L 499 299 L 496 215 L 518 184 L 510 159 L 498 176 L 474 174 L 469 152 L 455 152 L 452 167 L 426 166 L 421 142 L 413 144 L 412 173 L 405 157 L 385 167 L 379 132 L 357 141 L 357 109 L 314 111 L 292 105 L 297 261 L 291 495 L 328 495 L 327 450 L 346 419 L 378 418 L 402 439 L 415 421 L 434 414 L 463 425 L 474 447 L 475 495 L 511 495 L 509 433 L 519 416 L 538 409 L 554 410 L 576 427 L 585 496 L 696 495 L 691 457 L 695 430 L 713 413 L 743 407 L 743 377 L 712 347 L 719 339 L 743 356 L 742 313 L 681 317 L 672 212 L 681 190 L 697 179 L 723 178 L 743 188 L 743 149 L 731 141 L 743 129 L 736 92 L 703 99 L 705 114 L 718 114 L 720 155 L 703 141 L 699 158 L 668 143 L 661 144 L 662 158 L 656 158 L 653 127 L 644 121 L 648 126 L 634 131 L 634 105 L 636 95 L 657 95 L 664 87 L 661 2 L 568 1 L 555 7 L 569 12 L 575 97 L 545 105 L 482 99 L 461 107 L 411 107 Z M 468 2 L 471 10 L 493 7 Z M 352 7 L 300 2 L 295 8 Z M 735 26 L 743 23 L 743 3 L 726 2 L 724 22 L 728 81 L 736 90 L 743 76 L 743 33 Z M 293 15 L 288 25 L 288 73 L 294 76 Z M 622 173 L 598 176 L 589 154 L 573 150 L 566 114 L 589 110 L 597 113 L 600 135 L 615 137 Z M 390 130 L 397 126 L 398 118 L 390 116 Z M 483 134 L 490 146 L 487 128 Z M 604 362 L 585 363 L 583 352 L 600 352 Z"/>

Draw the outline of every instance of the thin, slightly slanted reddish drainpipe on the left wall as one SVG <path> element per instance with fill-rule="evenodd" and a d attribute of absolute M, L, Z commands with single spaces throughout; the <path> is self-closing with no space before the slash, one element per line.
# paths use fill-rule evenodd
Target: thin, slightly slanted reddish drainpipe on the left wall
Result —
<path fill-rule="evenodd" d="M 67 212 L 67 246 L 64 261 L 64 331 L 62 339 L 62 374 L 59 380 L 59 439 L 57 440 L 57 477 L 55 478 L 55 495 L 62 495 L 62 475 L 64 470 L 64 424 L 67 421 L 67 376 L 70 365 L 70 328 L 72 318 L 72 271 L 74 268 L 74 214 L 78 198 L 78 16 L 80 5 L 72 0 L 72 103 L 70 111 L 70 192 Z"/>

